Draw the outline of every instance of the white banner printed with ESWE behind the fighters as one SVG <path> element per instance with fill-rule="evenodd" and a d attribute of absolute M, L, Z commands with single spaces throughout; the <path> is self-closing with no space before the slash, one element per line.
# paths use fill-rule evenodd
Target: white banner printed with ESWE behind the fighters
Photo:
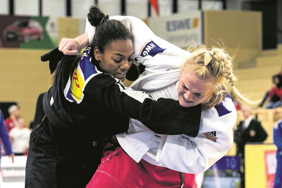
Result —
<path fill-rule="evenodd" d="M 203 43 L 201 11 L 173 14 L 149 19 L 150 29 L 159 37 L 180 47 L 187 48 Z"/>

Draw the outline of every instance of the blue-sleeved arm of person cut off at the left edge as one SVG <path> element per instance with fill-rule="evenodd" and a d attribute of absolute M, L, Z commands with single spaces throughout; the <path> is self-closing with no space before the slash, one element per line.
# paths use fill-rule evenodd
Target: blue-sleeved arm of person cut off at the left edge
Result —
<path fill-rule="evenodd" d="M 4 146 L 5 154 L 8 155 L 10 158 L 12 158 L 12 163 L 13 163 L 14 162 L 14 154 L 13 154 L 13 151 L 12 151 L 9 134 L 7 132 L 7 129 L 6 129 L 6 126 L 5 126 L 5 123 L 4 123 L 4 116 L 3 116 L 1 110 L 0 110 L 0 138 L 1 138 L 3 146 Z M 1 144 L 0 144 L 0 150 L 1 150 Z M 1 159 L 1 154 L 2 154 L 2 152 L 0 152 L 0 159 Z"/>

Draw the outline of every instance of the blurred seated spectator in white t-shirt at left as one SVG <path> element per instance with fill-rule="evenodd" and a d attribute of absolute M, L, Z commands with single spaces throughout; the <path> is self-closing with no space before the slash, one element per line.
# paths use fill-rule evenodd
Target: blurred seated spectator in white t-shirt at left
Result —
<path fill-rule="evenodd" d="M 17 127 L 14 127 L 9 132 L 12 140 L 12 149 L 15 155 L 24 155 L 29 146 L 30 129 L 25 125 L 25 119 L 19 118 Z"/>

